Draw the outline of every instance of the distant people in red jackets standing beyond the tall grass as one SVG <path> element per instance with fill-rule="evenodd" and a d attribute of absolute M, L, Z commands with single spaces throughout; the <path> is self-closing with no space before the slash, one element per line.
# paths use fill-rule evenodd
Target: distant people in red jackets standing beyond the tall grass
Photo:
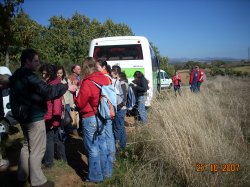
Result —
<path fill-rule="evenodd" d="M 189 85 L 191 92 L 200 92 L 200 87 L 204 81 L 204 72 L 200 70 L 199 66 L 195 66 L 190 72 Z M 175 96 L 177 93 L 181 95 L 181 76 L 178 71 L 172 77 Z"/>

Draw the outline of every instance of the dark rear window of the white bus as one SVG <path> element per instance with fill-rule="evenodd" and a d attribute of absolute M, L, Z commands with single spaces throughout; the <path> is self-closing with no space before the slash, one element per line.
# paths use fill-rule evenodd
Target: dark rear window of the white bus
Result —
<path fill-rule="evenodd" d="M 143 60 L 141 44 L 95 46 L 93 57 L 100 60 Z"/>

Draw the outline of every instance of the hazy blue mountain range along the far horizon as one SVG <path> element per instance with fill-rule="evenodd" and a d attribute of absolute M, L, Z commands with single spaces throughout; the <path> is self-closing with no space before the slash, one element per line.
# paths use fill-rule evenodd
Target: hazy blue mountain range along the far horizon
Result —
<path fill-rule="evenodd" d="M 169 58 L 170 64 L 178 64 L 178 63 L 184 63 L 188 61 L 194 61 L 194 62 L 206 62 L 211 63 L 215 60 L 221 60 L 224 62 L 241 62 L 242 60 L 247 61 L 246 59 L 237 59 L 237 58 L 229 58 L 229 57 L 206 57 L 206 58 Z"/>

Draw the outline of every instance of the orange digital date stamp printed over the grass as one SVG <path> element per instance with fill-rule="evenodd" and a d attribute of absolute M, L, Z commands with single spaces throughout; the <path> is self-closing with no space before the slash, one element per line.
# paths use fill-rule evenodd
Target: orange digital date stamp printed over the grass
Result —
<path fill-rule="evenodd" d="M 237 164 L 237 163 L 228 163 L 228 164 L 217 164 L 217 163 L 201 164 L 201 163 L 197 163 L 195 165 L 195 171 L 197 171 L 197 172 L 204 172 L 206 170 L 208 170 L 210 172 L 238 172 L 238 171 L 240 171 L 240 164 Z"/>

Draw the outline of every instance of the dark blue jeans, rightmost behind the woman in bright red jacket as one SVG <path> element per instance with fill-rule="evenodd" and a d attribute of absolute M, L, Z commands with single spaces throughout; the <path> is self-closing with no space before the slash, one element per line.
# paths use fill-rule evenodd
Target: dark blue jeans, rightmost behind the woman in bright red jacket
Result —
<path fill-rule="evenodd" d="M 126 109 L 117 111 L 114 120 L 114 134 L 115 141 L 119 144 L 120 148 L 126 147 L 126 129 L 125 129 L 125 116 Z"/>

